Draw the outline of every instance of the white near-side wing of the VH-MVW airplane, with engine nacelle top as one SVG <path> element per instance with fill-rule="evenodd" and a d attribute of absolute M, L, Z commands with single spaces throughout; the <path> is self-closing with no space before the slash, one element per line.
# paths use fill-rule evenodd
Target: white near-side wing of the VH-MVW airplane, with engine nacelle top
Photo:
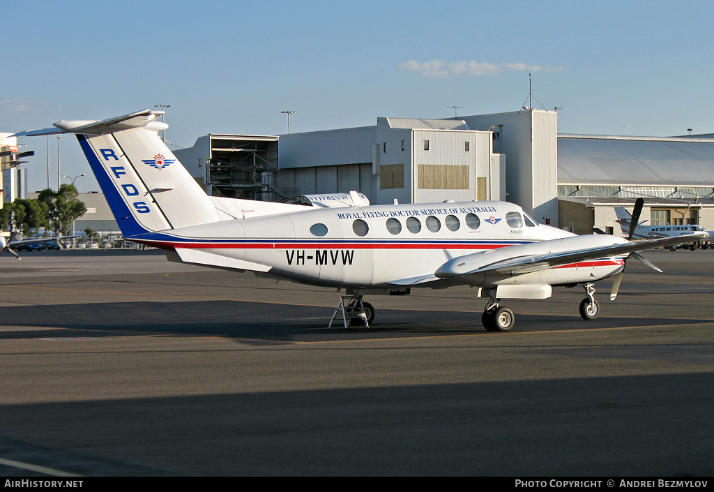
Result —
<path fill-rule="evenodd" d="M 444 263 L 434 275 L 443 279 L 476 273 L 510 277 L 581 261 L 630 255 L 653 247 L 676 245 L 703 237 L 708 237 L 708 234 L 703 232 L 638 242 L 615 236 L 610 236 L 610 239 L 600 239 L 603 238 L 602 235 L 575 236 L 563 240 L 503 247 L 492 251 L 493 255 L 489 255 L 489 252 L 464 255 Z"/>

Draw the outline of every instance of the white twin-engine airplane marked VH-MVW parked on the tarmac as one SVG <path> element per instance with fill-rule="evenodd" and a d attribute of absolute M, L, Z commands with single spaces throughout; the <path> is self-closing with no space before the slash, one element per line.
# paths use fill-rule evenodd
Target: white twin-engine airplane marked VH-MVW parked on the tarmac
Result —
<path fill-rule="evenodd" d="M 351 207 L 333 208 L 211 197 L 159 138 L 168 128 L 156 121 L 161 114 L 61 121 L 16 136 L 76 134 L 124 237 L 165 250 L 171 261 L 343 291 L 330 326 L 338 319 L 345 328 L 368 326 L 368 293 L 454 285 L 488 297 L 481 321 L 489 331 L 513 328 L 501 300 L 545 299 L 553 286 L 583 285 L 580 315 L 593 320 L 593 282 L 615 277 L 613 300 L 627 257 L 658 270 L 636 251 L 681 240 L 577 236 L 508 202 L 363 205 L 351 192 Z"/>

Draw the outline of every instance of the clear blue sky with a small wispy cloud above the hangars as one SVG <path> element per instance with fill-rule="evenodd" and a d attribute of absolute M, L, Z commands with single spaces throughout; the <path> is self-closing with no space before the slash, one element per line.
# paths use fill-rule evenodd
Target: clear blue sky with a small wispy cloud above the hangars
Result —
<path fill-rule="evenodd" d="M 0 132 L 170 104 L 166 139 L 191 147 L 286 133 L 283 110 L 292 132 L 509 112 L 531 73 L 561 133 L 714 133 L 706 1 L 3 0 L 0 17 Z M 46 187 L 44 137 L 20 143 Z M 74 137 L 60 152 L 62 174 L 91 174 Z"/>

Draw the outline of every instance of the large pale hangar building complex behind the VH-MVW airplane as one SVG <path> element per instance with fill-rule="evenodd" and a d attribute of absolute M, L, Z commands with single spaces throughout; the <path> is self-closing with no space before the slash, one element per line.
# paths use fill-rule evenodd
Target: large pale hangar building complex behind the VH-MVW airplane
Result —
<path fill-rule="evenodd" d="M 619 235 L 613 207 L 652 225 L 714 225 L 714 135 L 558 134 L 536 109 L 280 136 L 201 137 L 175 151 L 208 193 L 258 200 L 348 192 L 372 204 L 508 200 L 539 222 Z"/>

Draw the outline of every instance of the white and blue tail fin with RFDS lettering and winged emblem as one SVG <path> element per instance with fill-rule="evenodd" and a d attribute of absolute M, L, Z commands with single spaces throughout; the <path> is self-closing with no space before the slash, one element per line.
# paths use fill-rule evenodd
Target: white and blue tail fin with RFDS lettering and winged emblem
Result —
<path fill-rule="evenodd" d="M 168 127 L 154 121 L 161 114 L 146 109 L 101 122 L 54 124 L 77 135 L 125 237 L 220 220 L 206 192 L 159 138 Z"/>

